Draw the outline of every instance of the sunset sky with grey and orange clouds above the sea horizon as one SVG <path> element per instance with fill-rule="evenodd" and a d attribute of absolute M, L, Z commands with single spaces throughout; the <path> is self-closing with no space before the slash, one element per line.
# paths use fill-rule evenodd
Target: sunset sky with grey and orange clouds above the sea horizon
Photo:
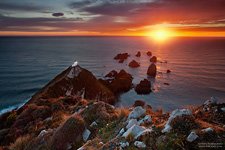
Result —
<path fill-rule="evenodd" d="M 224 0 L 8 0 L 0 36 L 225 37 Z"/>

